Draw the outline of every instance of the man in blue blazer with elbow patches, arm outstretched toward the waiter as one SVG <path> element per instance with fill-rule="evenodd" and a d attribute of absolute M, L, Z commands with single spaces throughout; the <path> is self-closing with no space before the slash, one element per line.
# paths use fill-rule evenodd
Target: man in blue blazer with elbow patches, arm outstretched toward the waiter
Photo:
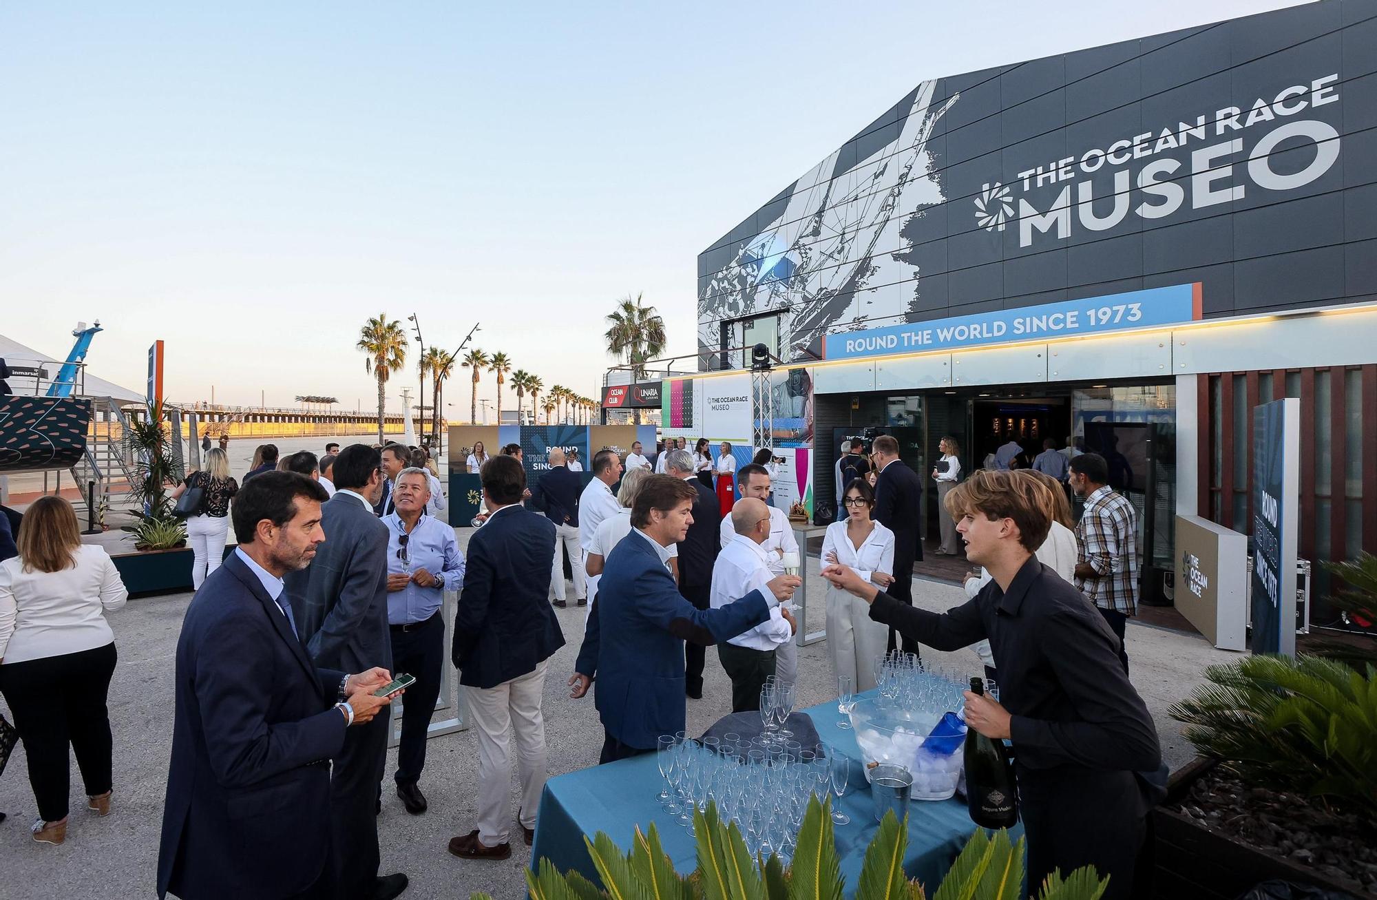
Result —
<path fill-rule="evenodd" d="M 570 695 L 580 698 L 596 677 L 606 732 L 599 762 L 654 750 L 660 735 L 683 729 L 686 640 L 708 645 L 748 632 L 801 583 L 779 575 L 767 585 L 768 596 L 752 590 L 716 610 L 684 600 L 669 574 L 668 548 L 684 539 L 697 495 L 671 475 L 647 478 L 631 511 L 631 534 L 607 555 L 569 678 Z"/>

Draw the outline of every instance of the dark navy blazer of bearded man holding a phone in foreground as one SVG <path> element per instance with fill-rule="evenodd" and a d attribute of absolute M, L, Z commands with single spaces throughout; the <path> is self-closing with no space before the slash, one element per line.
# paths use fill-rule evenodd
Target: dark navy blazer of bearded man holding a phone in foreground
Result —
<path fill-rule="evenodd" d="M 160 897 L 288 897 L 319 877 L 343 677 L 315 667 L 238 556 L 211 572 L 176 645 Z"/>

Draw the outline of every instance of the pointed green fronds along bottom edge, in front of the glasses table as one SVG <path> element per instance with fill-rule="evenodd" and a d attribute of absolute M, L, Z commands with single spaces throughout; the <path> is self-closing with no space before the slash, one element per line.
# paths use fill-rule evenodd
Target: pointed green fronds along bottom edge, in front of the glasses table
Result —
<path fill-rule="evenodd" d="M 660 900 L 788 900 L 790 897 L 837 897 L 845 885 L 841 881 L 841 860 L 832 833 L 830 800 L 808 801 L 803 826 L 799 828 L 793 863 L 785 868 L 779 857 L 752 859 L 741 828 L 717 817 L 716 804 L 706 812 L 694 812 L 694 835 L 698 844 L 698 868 L 688 877 L 675 871 L 669 855 L 660 846 L 660 834 L 651 824 L 649 833 L 636 828 L 635 846 L 629 853 L 599 831 L 584 835 L 588 855 L 598 868 L 603 888 L 593 885 L 578 872 L 560 872 L 549 860 L 541 860 L 537 871 L 526 870 L 526 885 L 536 900 L 567 897 L 596 900 L 599 897 L 643 897 Z M 856 900 L 924 900 L 924 886 L 903 874 L 903 849 L 909 841 L 907 819 L 899 822 L 887 812 L 880 828 L 866 849 Z M 1091 867 L 1078 868 L 1067 878 L 1059 872 L 1048 877 L 1037 894 L 1040 900 L 1096 900 L 1108 881 L 1100 881 Z M 991 897 L 1015 900 L 1023 896 L 1023 838 L 1009 842 L 1008 831 L 987 835 L 976 828 L 961 855 L 947 871 L 934 900 L 956 897 Z M 474 900 L 490 900 L 485 893 Z"/>

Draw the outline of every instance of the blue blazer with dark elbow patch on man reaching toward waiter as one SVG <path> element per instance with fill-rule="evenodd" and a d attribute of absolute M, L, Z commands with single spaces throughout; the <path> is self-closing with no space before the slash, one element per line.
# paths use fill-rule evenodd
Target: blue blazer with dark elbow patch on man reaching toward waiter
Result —
<path fill-rule="evenodd" d="M 576 672 L 593 678 L 603 728 L 627 746 L 653 750 L 686 720 L 684 641 L 716 644 L 770 618 L 752 590 L 716 610 L 680 596 L 650 542 L 632 531 L 607 555 Z"/>

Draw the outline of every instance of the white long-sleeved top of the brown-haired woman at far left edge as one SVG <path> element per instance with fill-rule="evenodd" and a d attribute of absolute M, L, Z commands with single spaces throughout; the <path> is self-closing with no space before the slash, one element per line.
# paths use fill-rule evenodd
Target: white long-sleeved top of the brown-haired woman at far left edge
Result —
<path fill-rule="evenodd" d="M 76 566 L 23 571 L 18 556 L 0 563 L 0 659 L 4 665 L 95 650 L 114 641 L 105 621 L 129 599 L 105 548 L 83 544 Z"/>

